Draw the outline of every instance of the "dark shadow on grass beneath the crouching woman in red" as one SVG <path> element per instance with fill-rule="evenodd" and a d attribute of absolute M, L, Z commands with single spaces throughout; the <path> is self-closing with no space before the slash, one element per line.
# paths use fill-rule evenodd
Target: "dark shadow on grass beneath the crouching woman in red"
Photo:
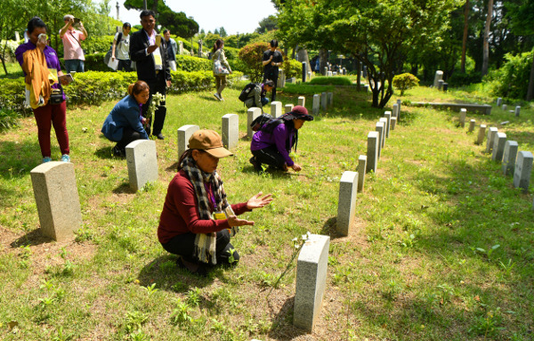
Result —
<path fill-rule="evenodd" d="M 157 283 L 156 288 L 166 291 L 186 292 L 190 287 L 204 288 L 214 282 L 216 269 L 212 269 L 207 277 L 199 277 L 181 269 L 176 264 L 178 258 L 171 254 L 158 256 L 149 264 L 143 266 L 137 276 L 143 287 Z"/>

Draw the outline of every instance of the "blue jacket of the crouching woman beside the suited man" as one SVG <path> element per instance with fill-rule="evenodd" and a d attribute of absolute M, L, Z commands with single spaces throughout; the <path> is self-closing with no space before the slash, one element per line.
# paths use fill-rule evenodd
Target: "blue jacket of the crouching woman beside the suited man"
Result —
<path fill-rule="evenodd" d="M 141 107 L 135 101 L 134 96 L 129 94 L 118 101 L 111 112 L 109 112 L 101 132 L 109 140 L 119 142 L 123 137 L 124 128 L 128 126 L 141 134 L 143 139 L 149 139 L 149 135 L 147 135 L 147 132 L 141 124 Z"/>

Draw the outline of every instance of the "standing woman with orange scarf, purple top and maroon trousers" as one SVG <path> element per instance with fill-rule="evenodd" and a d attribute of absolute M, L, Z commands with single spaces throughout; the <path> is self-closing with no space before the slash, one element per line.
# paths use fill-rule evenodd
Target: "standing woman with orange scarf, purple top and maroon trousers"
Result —
<path fill-rule="evenodd" d="M 24 71 L 29 103 L 37 124 L 39 147 L 43 163 L 52 160 L 50 130 L 53 126 L 60 143 L 61 161 L 70 161 L 69 133 L 67 132 L 67 106 L 62 91 L 60 60 L 55 50 L 46 45 L 46 25 L 39 17 L 28 22 L 28 43 L 19 45 L 15 57 Z M 61 78 L 67 85 L 67 78 Z"/>

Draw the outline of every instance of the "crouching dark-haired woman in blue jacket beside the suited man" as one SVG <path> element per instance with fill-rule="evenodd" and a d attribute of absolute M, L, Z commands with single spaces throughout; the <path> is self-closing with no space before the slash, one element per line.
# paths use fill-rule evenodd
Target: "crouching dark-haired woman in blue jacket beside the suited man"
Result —
<path fill-rule="evenodd" d="M 101 132 L 109 141 L 117 142 L 113 155 L 125 158 L 126 146 L 135 140 L 149 139 L 144 126 L 147 118 L 142 117 L 141 107 L 149 101 L 150 90 L 142 80 L 128 86 L 128 94 L 115 104 L 102 125 Z"/>

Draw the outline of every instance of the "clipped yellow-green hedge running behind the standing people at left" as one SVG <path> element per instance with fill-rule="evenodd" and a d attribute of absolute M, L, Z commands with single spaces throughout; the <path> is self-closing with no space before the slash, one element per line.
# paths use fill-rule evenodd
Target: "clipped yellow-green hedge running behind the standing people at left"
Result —
<path fill-rule="evenodd" d="M 214 87 L 212 71 L 172 71 L 171 88 L 167 93 L 185 93 L 190 91 L 205 91 Z M 234 72 L 228 77 L 229 83 L 236 82 L 241 76 Z M 124 97 L 128 85 L 137 80 L 135 72 L 99 72 L 87 71 L 77 73 L 75 82 L 64 86 L 69 104 L 100 105 L 103 101 L 119 100 Z M 20 115 L 28 115 L 31 110 L 24 107 L 24 78 L 0 79 L 0 107 L 13 110 Z"/>

